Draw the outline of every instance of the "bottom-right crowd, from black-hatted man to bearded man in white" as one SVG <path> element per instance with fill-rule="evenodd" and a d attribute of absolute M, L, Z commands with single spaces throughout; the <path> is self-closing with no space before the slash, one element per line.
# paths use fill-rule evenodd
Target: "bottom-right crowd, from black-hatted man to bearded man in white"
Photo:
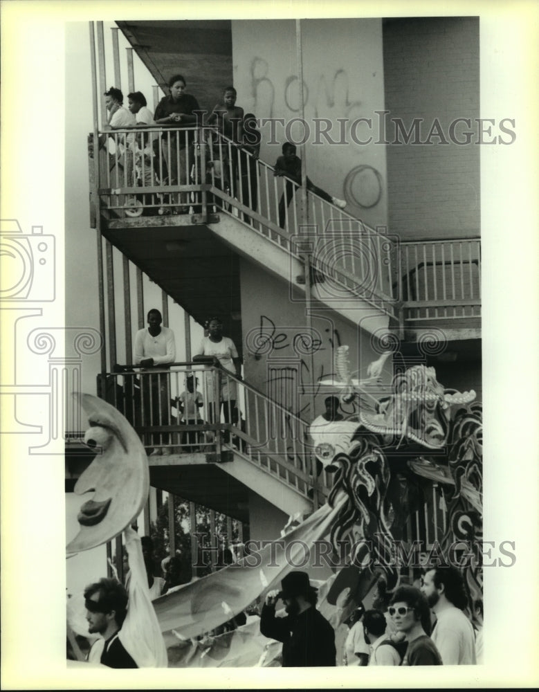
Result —
<path fill-rule="evenodd" d="M 387 597 L 388 594 L 385 594 Z M 345 666 L 462 666 L 476 664 L 479 632 L 465 614 L 468 599 L 461 572 L 453 566 L 428 570 L 421 588 L 401 585 L 373 607 L 361 604 L 347 619 Z M 285 617 L 275 617 L 281 599 Z M 291 572 L 282 590 L 268 592 L 260 631 L 282 641 L 282 665 L 336 666 L 335 632 L 316 609 L 307 572 Z M 479 654 L 479 656 L 478 656 Z"/>

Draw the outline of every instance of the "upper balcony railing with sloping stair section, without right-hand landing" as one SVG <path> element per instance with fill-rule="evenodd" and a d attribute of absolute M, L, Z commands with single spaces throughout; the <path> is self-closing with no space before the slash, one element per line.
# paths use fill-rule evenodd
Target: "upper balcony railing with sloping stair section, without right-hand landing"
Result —
<path fill-rule="evenodd" d="M 313 192 L 302 226 L 299 185 L 213 129 L 118 129 L 102 133 L 100 146 L 105 213 L 235 216 L 298 259 L 309 253 L 325 280 L 394 315 L 391 239 Z"/>

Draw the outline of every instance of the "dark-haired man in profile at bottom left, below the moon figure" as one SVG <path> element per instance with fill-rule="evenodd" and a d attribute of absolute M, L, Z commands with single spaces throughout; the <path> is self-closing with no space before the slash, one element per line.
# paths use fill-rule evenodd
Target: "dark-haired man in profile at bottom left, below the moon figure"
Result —
<path fill-rule="evenodd" d="M 86 620 L 90 634 L 101 635 L 94 642 L 88 660 L 109 668 L 138 668 L 120 641 L 120 629 L 127 614 L 127 592 L 116 579 L 102 578 L 84 589 Z"/>

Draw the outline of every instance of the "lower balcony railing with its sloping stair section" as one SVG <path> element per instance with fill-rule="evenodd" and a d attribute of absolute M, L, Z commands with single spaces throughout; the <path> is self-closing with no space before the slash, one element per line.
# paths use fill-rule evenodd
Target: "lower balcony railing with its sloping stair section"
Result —
<path fill-rule="evenodd" d="M 322 497 L 328 493 L 326 473 L 316 480 L 308 425 L 220 367 L 126 365 L 100 377 L 98 392 L 125 415 L 152 456 L 205 453 L 219 462 L 228 450 L 306 498 L 315 484 Z"/>

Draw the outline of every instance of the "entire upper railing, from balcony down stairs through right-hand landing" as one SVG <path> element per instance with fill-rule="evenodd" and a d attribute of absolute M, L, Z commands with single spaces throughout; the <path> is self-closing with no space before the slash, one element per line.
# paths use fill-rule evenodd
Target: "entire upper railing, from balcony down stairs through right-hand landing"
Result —
<path fill-rule="evenodd" d="M 107 131 L 98 151 L 104 214 L 223 213 L 401 323 L 480 314 L 479 239 L 395 243 L 310 191 L 302 226 L 299 186 L 210 128 Z"/>

